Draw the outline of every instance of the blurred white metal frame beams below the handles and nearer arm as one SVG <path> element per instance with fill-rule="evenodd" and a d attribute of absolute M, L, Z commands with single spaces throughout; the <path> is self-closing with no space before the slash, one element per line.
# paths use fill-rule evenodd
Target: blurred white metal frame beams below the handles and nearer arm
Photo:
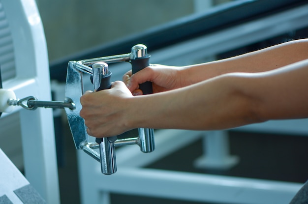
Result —
<path fill-rule="evenodd" d="M 108 204 L 109 193 L 114 192 L 226 204 L 287 204 L 302 186 L 290 182 L 143 168 L 206 134 L 202 131 L 158 130 L 155 132 L 157 148 L 151 154 L 143 154 L 133 146 L 117 150 L 119 170 L 111 176 L 99 176 L 99 165 L 78 152 L 82 203 Z"/>

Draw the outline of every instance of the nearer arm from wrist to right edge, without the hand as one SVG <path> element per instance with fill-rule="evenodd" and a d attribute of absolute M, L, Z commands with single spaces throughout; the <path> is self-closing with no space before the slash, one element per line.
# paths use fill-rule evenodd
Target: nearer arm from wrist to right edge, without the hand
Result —
<path fill-rule="evenodd" d="M 304 60 L 273 71 L 230 73 L 132 97 L 135 111 L 130 113 L 130 125 L 217 130 L 269 119 L 308 117 L 307 76 L 308 60 Z"/>

